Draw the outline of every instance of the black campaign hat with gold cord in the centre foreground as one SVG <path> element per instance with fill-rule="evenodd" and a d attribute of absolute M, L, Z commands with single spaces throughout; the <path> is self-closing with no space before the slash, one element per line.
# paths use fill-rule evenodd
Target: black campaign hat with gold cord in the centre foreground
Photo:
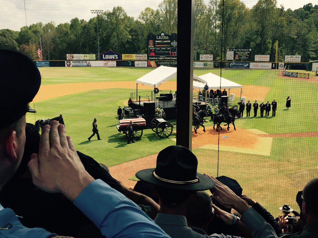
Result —
<path fill-rule="evenodd" d="M 153 185 L 182 190 L 204 191 L 215 182 L 197 173 L 197 157 L 180 145 L 168 146 L 159 152 L 156 169 L 143 169 L 136 177 Z"/>

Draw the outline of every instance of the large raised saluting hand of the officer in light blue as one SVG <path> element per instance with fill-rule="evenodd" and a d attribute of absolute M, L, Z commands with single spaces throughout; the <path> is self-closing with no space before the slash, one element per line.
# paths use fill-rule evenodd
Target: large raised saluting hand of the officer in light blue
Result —
<path fill-rule="evenodd" d="M 62 193 L 72 202 L 94 179 L 84 169 L 65 126 L 52 121 L 42 129 L 39 153 L 28 163 L 32 181 L 49 193 Z"/>

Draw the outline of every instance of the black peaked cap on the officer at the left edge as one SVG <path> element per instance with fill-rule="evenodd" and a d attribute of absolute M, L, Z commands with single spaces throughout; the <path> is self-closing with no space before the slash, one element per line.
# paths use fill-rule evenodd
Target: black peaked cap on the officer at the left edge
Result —
<path fill-rule="evenodd" d="M 41 75 L 33 61 L 24 54 L 0 49 L 0 130 L 33 110 L 29 103 L 38 93 Z"/>

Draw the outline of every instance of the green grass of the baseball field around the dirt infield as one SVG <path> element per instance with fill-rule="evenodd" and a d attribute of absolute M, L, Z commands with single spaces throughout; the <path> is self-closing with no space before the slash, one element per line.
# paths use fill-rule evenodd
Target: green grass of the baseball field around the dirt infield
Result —
<path fill-rule="evenodd" d="M 39 70 L 42 84 L 118 82 L 117 89 L 95 89 L 34 104 L 32 102 L 37 113 L 27 114 L 27 122 L 31 123 L 63 114 L 67 134 L 72 136 L 76 148 L 98 162 L 113 166 L 158 153 L 175 144 L 171 139 L 176 138 L 176 133 L 161 139 L 151 129 L 144 130 L 140 141 L 127 144 L 126 136 L 119 134 L 115 127 L 118 124 L 117 106 L 123 107 L 123 102 L 128 100 L 133 91 L 121 81 L 135 81 L 152 69 L 61 67 Z M 219 69 L 194 69 L 194 74 L 198 76 L 208 72 L 220 75 Z M 318 131 L 318 83 L 278 77 L 275 70 L 261 69 L 222 69 L 222 77 L 239 84 L 270 87 L 266 100 L 272 102 L 276 99 L 278 103 L 276 117 L 239 119 L 236 120 L 239 128 L 258 129 L 269 134 Z M 285 108 L 287 96 L 292 98 L 290 110 Z M 249 100 L 253 103 L 253 99 Z M 95 136 L 89 142 L 87 137 L 92 133 L 94 117 L 98 118 L 102 141 L 97 141 Z M 216 175 L 218 168 L 219 175 L 236 178 L 244 188 L 244 193 L 262 202 L 276 214 L 279 210 L 275 208 L 278 205 L 275 198 L 279 198 L 280 206 L 284 203 L 296 206 L 296 192 L 308 179 L 318 176 L 317 142 L 318 137 L 273 138 L 270 156 L 220 151 L 219 163 L 216 150 L 197 148 L 193 152 L 198 157 L 200 172 Z M 245 143 L 245 138 L 237 143 Z"/>

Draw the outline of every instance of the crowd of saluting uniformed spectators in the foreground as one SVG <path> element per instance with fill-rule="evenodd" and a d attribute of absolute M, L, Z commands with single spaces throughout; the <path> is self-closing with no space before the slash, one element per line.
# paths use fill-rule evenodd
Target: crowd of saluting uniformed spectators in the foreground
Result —
<path fill-rule="evenodd" d="M 40 135 L 26 123 L 40 73 L 21 53 L 0 56 L 0 237 L 318 237 L 318 179 L 296 195 L 300 213 L 285 204 L 275 219 L 236 180 L 197 173 L 189 149 L 169 146 L 126 188 L 64 125 Z"/>

